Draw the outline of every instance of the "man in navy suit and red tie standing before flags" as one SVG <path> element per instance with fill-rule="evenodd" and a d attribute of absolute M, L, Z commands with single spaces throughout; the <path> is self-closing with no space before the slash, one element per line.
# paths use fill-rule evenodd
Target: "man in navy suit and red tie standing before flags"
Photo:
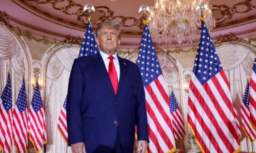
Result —
<path fill-rule="evenodd" d="M 102 22 L 96 41 L 100 53 L 76 58 L 70 73 L 68 145 L 73 153 L 131 153 L 137 125 L 137 152 L 144 153 L 149 138 L 139 67 L 116 54 L 119 24 Z"/>

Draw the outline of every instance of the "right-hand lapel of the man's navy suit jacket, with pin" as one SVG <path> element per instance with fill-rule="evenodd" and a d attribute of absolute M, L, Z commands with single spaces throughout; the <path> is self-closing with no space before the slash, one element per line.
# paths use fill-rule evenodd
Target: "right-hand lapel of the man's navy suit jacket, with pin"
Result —
<path fill-rule="evenodd" d="M 125 78 L 126 78 L 126 73 L 127 73 L 127 64 L 123 58 L 120 58 L 118 55 L 118 61 L 119 61 L 119 67 L 120 67 L 120 77 L 119 77 L 119 82 L 118 82 L 118 87 L 117 87 L 117 95 L 119 92 L 122 90 L 122 86 L 124 86 L 125 83 Z"/>

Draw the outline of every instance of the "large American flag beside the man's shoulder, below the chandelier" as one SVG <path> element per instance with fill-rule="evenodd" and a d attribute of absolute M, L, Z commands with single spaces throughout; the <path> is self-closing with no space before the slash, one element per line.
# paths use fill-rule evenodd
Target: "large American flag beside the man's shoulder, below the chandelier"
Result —
<path fill-rule="evenodd" d="M 147 122 L 149 125 L 149 152 L 174 152 L 175 139 L 171 124 L 167 86 L 162 76 L 150 31 L 143 25 L 141 48 L 137 58 L 145 87 Z"/>

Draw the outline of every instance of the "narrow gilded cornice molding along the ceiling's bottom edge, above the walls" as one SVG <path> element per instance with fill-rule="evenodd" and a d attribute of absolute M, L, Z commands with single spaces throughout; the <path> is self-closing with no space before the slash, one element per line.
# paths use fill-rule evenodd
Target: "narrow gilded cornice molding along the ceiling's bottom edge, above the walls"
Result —
<path fill-rule="evenodd" d="M 57 36 L 57 37 L 61 37 L 63 38 L 62 41 L 55 41 L 53 39 L 48 39 L 46 37 L 42 37 L 42 38 L 38 38 L 38 37 L 35 37 L 33 36 L 30 32 L 25 32 L 25 31 L 20 31 L 20 29 L 18 28 L 15 28 L 12 26 L 12 24 L 10 24 L 10 21 L 12 22 L 16 22 L 17 24 L 20 24 L 24 27 L 27 27 L 28 29 L 33 29 L 35 31 L 40 31 L 42 33 L 47 33 L 49 35 L 54 35 L 54 36 Z M 81 45 L 82 44 L 82 37 L 74 37 L 72 35 L 65 35 L 65 34 L 62 34 L 62 33 L 56 33 L 54 31 L 49 31 L 49 30 L 46 30 L 46 29 L 42 29 L 40 27 L 35 27 L 31 24 L 28 24 L 26 22 L 23 22 L 21 20 L 18 20 L 8 14 L 6 14 L 5 12 L 1 12 L 0 11 L 0 22 L 2 22 L 3 24 L 5 24 L 7 27 L 9 27 L 12 31 L 14 31 L 18 36 L 23 36 L 23 37 L 27 37 L 27 39 L 34 39 L 35 41 L 43 41 L 44 44 L 77 44 L 77 45 Z M 214 41 L 214 44 L 216 44 L 216 46 L 218 46 L 219 44 L 223 44 L 224 42 L 230 42 L 230 41 L 244 41 L 245 43 L 249 43 L 251 45 L 253 45 L 251 43 L 251 41 L 245 41 L 244 39 L 241 39 L 239 36 L 240 35 L 246 35 L 248 33 L 255 33 L 256 32 L 256 27 L 255 29 L 251 29 L 251 30 L 248 30 L 248 31 L 242 31 L 242 32 L 239 32 L 239 33 L 228 33 L 226 35 L 218 35 L 216 37 L 212 37 L 212 40 Z M 137 35 L 139 35 L 139 37 L 141 37 L 142 33 L 130 33 L 130 35 L 133 35 L 133 37 L 137 37 Z M 249 39 L 251 40 L 251 39 Z M 153 43 L 154 46 L 162 46 L 162 44 L 159 44 L 159 43 L 156 43 L 154 42 Z M 140 43 L 121 43 L 120 46 L 140 46 Z M 190 46 L 197 46 L 197 42 L 194 43 L 194 44 L 190 44 Z M 254 45 L 255 46 L 255 45 Z M 184 48 L 184 46 L 172 46 L 172 47 L 175 47 L 175 48 Z M 256 46 L 255 46 L 256 48 Z M 176 50 L 177 52 L 180 52 L 179 50 Z M 176 52 L 175 51 L 175 52 Z M 183 52 L 183 51 L 181 51 Z"/>

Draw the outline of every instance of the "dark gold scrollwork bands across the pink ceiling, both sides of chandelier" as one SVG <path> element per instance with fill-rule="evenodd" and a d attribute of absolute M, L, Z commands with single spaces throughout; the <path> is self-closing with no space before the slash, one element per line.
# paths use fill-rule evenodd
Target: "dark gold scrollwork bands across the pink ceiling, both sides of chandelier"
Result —
<path fill-rule="evenodd" d="M 36 12 L 36 14 L 40 14 L 42 18 L 48 20 L 51 19 L 51 22 L 55 22 L 57 24 L 68 26 L 73 29 L 83 30 L 87 25 L 87 12 L 83 12 L 83 6 L 79 3 L 76 3 L 74 0 L 12 0 L 18 5 L 22 6 L 25 10 Z M 243 18 L 233 19 L 234 14 L 244 14 L 250 12 L 252 10 L 256 10 L 256 6 L 252 4 L 253 0 L 244 0 L 240 3 L 236 3 L 233 6 L 227 5 L 213 5 L 212 12 L 213 14 L 217 14 L 218 18 L 216 19 L 216 28 L 223 28 L 233 26 L 234 24 L 242 24 L 245 22 L 250 22 L 251 20 L 255 20 L 256 16 L 244 16 Z M 29 3 L 30 2 L 30 3 Z M 60 18 L 54 16 L 49 12 L 45 12 L 44 10 L 40 10 L 36 5 L 32 5 L 31 2 L 36 3 L 38 5 L 51 5 L 54 10 L 59 11 L 66 16 L 75 16 L 78 22 L 72 22 L 70 20 L 66 20 L 65 18 Z M 31 12 L 31 11 L 30 11 Z M 33 13 L 35 14 L 35 13 Z M 137 19 L 131 16 L 115 16 L 115 12 L 110 10 L 109 7 L 106 6 L 96 6 L 96 12 L 91 12 L 91 22 L 96 27 L 100 22 L 118 20 L 122 27 L 138 27 L 139 29 L 143 28 L 143 16 Z"/>

